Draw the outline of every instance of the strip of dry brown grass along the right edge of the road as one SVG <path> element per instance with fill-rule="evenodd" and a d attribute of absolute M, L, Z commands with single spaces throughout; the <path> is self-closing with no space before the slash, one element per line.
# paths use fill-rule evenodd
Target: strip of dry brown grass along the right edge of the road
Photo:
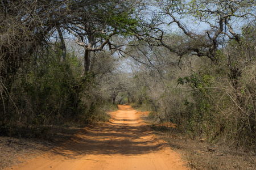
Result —
<path fill-rule="evenodd" d="M 256 155 L 224 145 L 210 145 L 205 139 L 192 140 L 173 124 L 151 124 L 152 130 L 180 152 L 191 169 L 256 169 Z"/>

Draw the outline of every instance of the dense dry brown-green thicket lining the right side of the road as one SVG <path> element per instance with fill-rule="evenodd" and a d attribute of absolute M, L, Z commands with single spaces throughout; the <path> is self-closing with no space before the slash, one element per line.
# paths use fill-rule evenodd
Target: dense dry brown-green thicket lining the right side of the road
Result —
<path fill-rule="evenodd" d="M 172 33 L 166 41 L 175 37 L 184 39 Z M 240 39 L 218 48 L 214 62 L 138 42 L 127 53 L 137 66 L 131 101 L 150 109 L 156 122 L 174 122 L 191 138 L 255 150 L 255 25 L 244 27 Z"/>

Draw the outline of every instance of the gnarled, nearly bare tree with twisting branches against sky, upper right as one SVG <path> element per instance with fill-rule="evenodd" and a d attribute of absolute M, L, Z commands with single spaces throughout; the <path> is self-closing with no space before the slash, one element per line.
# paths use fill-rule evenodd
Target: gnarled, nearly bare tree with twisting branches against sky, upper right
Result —
<path fill-rule="evenodd" d="M 150 5 L 155 6 L 156 10 L 151 20 L 144 22 L 148 28 L 146 36 L 138 37 L 153 45 L 166 46 L 179 56 L 192 53 L 207 56 L 213 62 L 217 62 L 216 52 L 227 39 L 240 42 L 241 29 L 237 29 L 237 25 L 242 26 L 242 23 L 247 24 L 256 19 L 255 3 L 251 0 L 161 0 L 152 1 Z M 166 30 L 170 26 L 179 28 L 187 36 L 182 43 L 182 50 L 166 41 Z M 201 32 L 198 31 L 200 27 L 203 27 Z"/>

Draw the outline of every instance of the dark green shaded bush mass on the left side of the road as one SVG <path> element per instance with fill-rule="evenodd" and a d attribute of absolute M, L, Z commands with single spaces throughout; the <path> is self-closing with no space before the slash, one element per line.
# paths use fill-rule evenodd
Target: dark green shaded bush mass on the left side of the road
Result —
<path fill-rule="evenodd" d="M 27 131 L 39 137 L 46 136 L 49 125 L 85 125 L 107 119 L 95 103 L 101 97 L 93 94 L 93 74 L 81 76 L 83 68 L 74 54 L 68 53 L 63 64 L 60 56 L 61 52 L 41 49 L 10 74 L 9 95 L 0 105 L 1 134 L 26 136 Z"/>

